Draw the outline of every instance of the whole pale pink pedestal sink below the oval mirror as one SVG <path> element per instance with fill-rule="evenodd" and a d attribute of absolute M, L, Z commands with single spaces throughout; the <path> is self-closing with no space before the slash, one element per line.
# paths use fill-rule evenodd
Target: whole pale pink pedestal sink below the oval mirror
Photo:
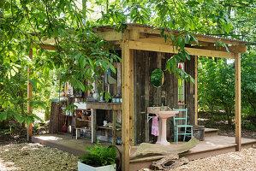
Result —
<path fill-rule="evenodd" d="M 161 111 L 162 108 L 162 111 Z M 163 110 L 164 109 L 164 110 Z M 166 120 L 167 118 L 173 117 L 178 114 L 178 110 L 171 110 L 167 106 L 163 107 L 147 107 L 147 114 L 158 115 L 159 118 L 159 130 L 158 130 L 158 141 L 156 144 L 169 145 L 170 143 L 166 140 Z"/>

